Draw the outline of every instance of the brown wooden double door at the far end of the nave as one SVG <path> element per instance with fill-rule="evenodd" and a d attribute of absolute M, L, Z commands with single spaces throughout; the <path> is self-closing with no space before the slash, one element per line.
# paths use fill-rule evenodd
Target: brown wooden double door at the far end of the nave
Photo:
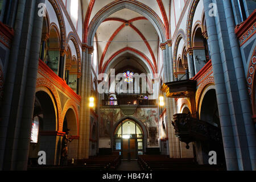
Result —
<path fill-rule="evenodd" d="M 136 139 L 123 139 L 122 154 L 123 159 L 136 159 Z"/>

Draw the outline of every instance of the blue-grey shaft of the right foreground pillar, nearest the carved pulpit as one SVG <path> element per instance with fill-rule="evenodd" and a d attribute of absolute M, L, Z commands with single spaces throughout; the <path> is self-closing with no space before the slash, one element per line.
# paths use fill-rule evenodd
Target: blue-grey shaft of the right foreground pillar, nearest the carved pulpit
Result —
<path fill-rule="evenodd" d="M 236 145 L 233 138 L 233 123 L 230 118 L 229 102 L 226 95 L 225 78 L 218 42 L 218 32 L 216 28 L 215 18 L 213 16 L 209 16 L 208 14 L 208 12 L 210 11 L 210 3 L 212 3 L 211 0 L 204 0 L 205 20 L 207 23 L 209 47 L 212 57 L 213 75 L 216 86 L 216 96 L 218 102 L 218 111 L 220 115 L 226 167 L 228 170 L 238 170 Z"/>

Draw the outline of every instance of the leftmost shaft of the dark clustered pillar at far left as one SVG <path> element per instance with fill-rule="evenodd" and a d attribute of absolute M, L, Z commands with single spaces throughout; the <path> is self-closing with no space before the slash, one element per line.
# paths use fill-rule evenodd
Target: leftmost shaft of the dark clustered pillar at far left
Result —
<path fill-rule="evenodd" d="M 11 101 L 14 92 L 15 73 L 18 62 L 20 40 L 22 38 L 22 27 L 24 20 L 24 13 L 26 7 L 26 0 L 20 0 L 18 3 L 18 10 L 14 25 L 14 39 L 10 50 L 9 67 L 7 68 L 5 88 L 3 92 L 3 101 L 0 109 L 0 170 L 3 169 L 3 159 L 5 155 L 7 129 L 9 125 Z"/>

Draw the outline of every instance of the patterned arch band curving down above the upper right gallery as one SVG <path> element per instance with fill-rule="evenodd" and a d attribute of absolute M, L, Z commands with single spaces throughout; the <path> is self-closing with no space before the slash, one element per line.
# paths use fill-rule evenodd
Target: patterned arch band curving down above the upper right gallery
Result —
<path fill-rule="evenodd" d="M 189 13 L 187 18 L 187 48 L 192 48 L 192 26 L 193 26 L 193 19 L 196 12 L 196 7 L 200 0 L 192 0 L 189 6 Z"/>

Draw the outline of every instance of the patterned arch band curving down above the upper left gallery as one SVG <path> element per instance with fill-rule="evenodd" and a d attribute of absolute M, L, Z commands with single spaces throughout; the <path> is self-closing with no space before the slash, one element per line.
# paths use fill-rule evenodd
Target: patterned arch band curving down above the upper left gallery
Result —
<path fill-rule="evenodd" d="M 64 17 L 61 11 L 61 8 L 59 7 L 59 3 L 57 0 L 48 0 L 49 3 L 51 3 L 55 14 L 57 16 L 59 26 L 60 26 L 60 40 L 61 40 L 61 45 L 60 48 L 61 50 L 65 50 L 65 44 L 66 44 L 66 28 L 65 28 L 65 22 L 64 22 Z"/>

